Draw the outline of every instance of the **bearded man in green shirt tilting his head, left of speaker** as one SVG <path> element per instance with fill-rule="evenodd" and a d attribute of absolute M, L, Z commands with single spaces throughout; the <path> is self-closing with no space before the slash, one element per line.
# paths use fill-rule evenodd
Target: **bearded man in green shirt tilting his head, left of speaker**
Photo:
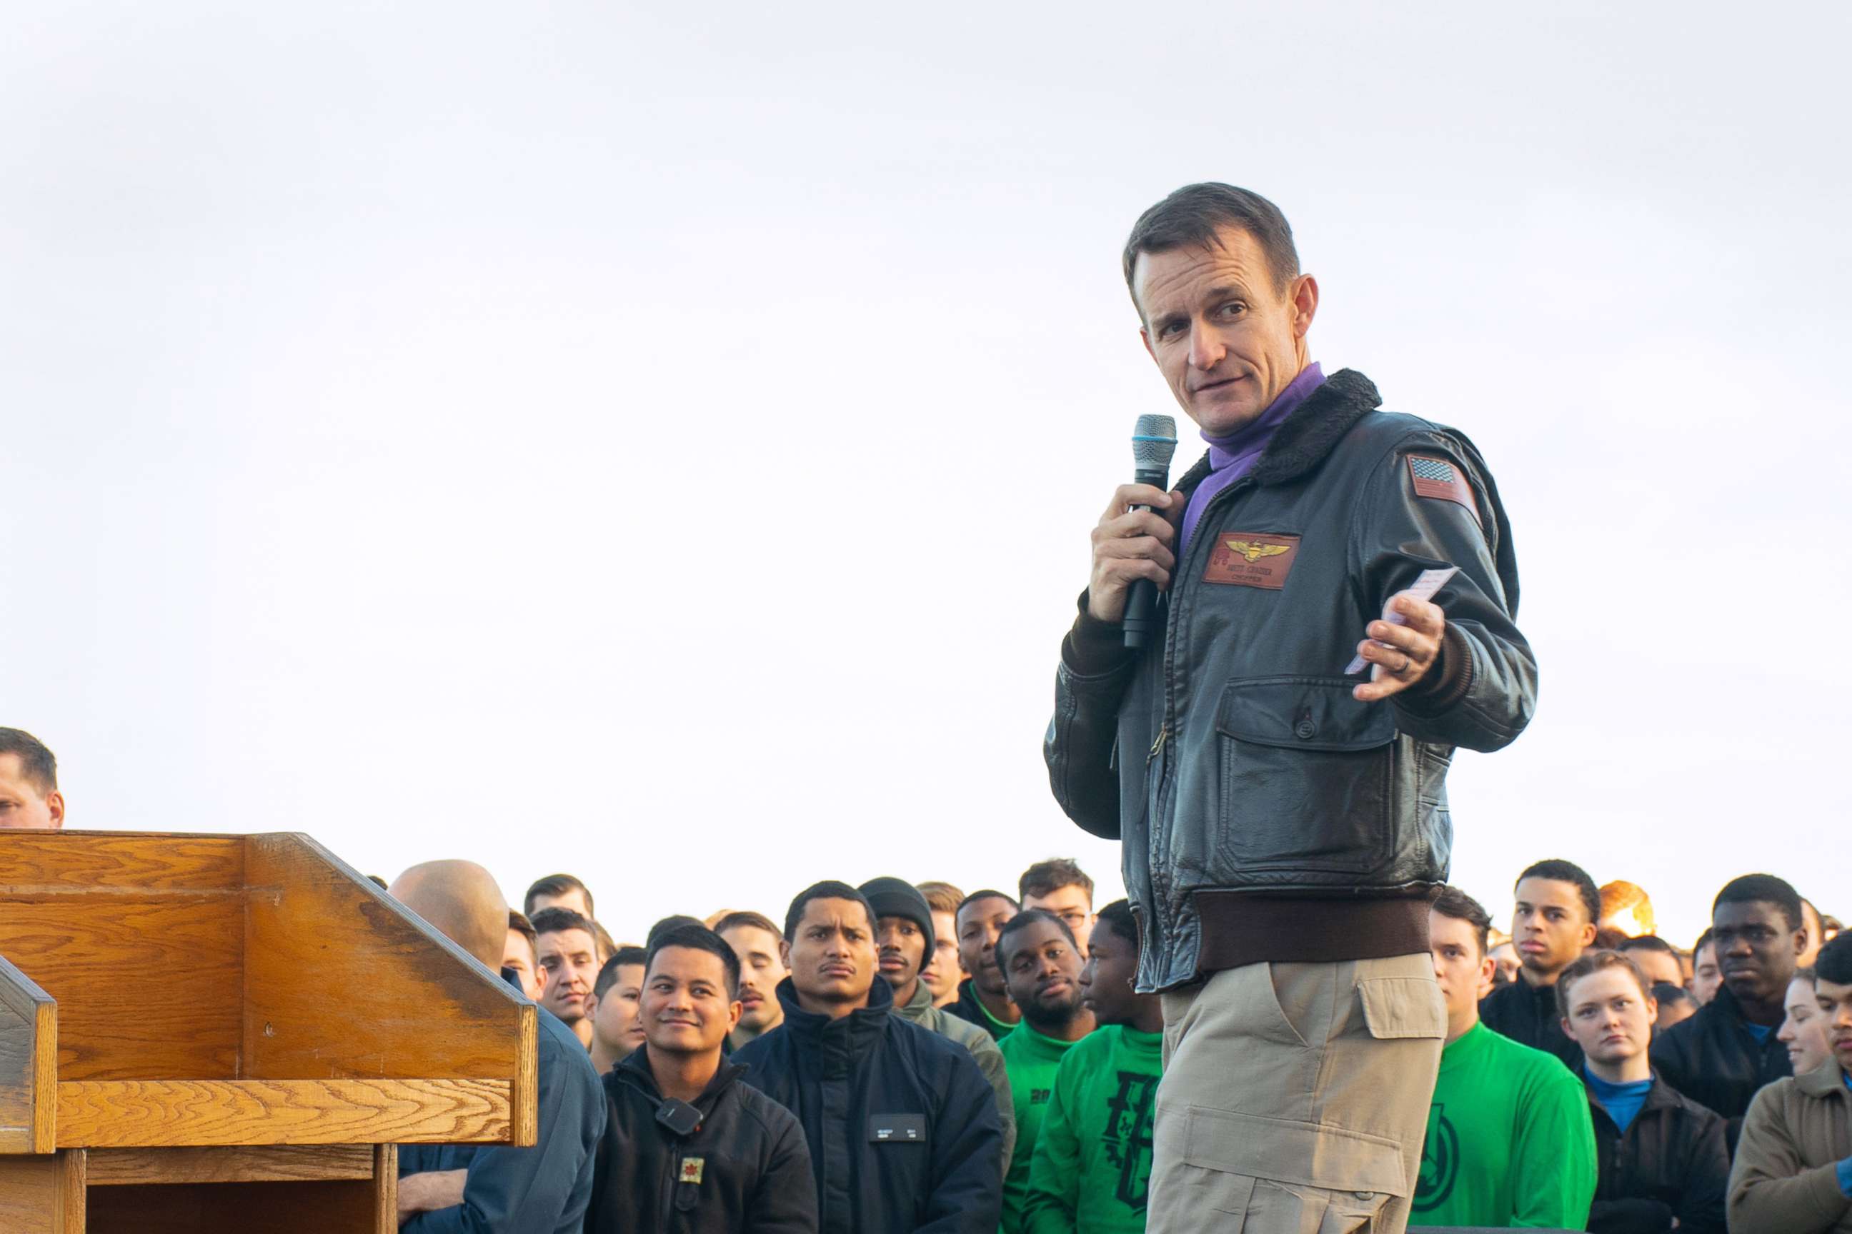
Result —
<path fill-rule="evenodd" d="M 996 966 L 1009 1001 L 1022 1010 L 1022 1023 L 1000 1043 L 1017 1103 L 1017 1160 L 1004 1178 L 1004 1234 L 1022 1230 L 1035 1132 L 1048 1114 L 1061 1056 L 1095 1029 L 1093 1012 L 1082 1003 L 1083 964 L 1074 931 L 1046 908 L 1024 908 L 996 936 Z"/>

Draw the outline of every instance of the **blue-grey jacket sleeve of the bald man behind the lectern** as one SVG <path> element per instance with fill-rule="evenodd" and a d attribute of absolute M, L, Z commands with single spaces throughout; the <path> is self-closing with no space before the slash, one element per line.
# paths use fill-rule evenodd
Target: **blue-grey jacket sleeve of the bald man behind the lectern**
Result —
<path fill-rule="evenodd" d="M 543 1043 L 537 1104 L 539 1134 L 532 1149 L 482 1149 L 470 1158 L 463 1203 L 422 1212 L 398 1227 L 400 1234 L 532 1234 L 557 1228 L 574 1203 L 580 1173 L 604 1136 L 604 1088 L 591 1060 L 550 1055 Z M 578 1199 L 587 1203 L 589 1195 Z"/>

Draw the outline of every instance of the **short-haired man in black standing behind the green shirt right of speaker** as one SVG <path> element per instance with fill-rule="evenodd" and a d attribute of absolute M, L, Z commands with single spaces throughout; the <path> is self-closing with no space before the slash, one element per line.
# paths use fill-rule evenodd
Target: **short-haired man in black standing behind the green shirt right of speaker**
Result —
<path fill-rule="evenodd" d="M 1556 977 L 1595 945 L 1602 894 L 1582 866 L 1541 860 L 1519 875 L 1515 899 L 1511 944 L 1519 956 L 1517 981 L 1485 995 L 1480 1019 L 1487 1029 L 1556 1055 L 1576 1069 L 1582 1051 L 1563 1032 Z"/>

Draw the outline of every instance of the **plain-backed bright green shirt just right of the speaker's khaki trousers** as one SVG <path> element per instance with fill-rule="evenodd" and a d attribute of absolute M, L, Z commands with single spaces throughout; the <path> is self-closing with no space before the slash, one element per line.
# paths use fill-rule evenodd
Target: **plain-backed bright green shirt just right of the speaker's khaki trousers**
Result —
<path fill-rule="evenodd" d="M 1411 1223 L 1582 1230 L 1593 1201 L 1595 1123 L 1576 1073 L 1485 1025 L 1443 1049 Z"/>

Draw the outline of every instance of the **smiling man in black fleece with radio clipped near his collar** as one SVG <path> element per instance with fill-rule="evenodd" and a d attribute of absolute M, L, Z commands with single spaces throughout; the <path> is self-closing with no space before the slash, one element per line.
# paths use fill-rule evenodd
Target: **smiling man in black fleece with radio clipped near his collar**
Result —
<path fill-rule="evenodd" d="M 604 1077 L 587 1234 L 815 1234 L 817 1186 L 791 1110 L 722 1056 L 739 1018 L 739 958 L 704 925 L 644 956 L 644 1047 Z"/>

